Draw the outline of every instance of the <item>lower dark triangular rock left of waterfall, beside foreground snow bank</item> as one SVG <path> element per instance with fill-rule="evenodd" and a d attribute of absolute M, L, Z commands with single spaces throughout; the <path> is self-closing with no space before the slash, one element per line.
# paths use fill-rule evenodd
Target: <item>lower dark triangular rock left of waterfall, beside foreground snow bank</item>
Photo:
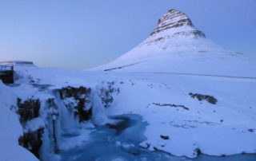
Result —
<path fill-rule="evenodd" d="M 26 132 L 18 138 L 18 144 L 31 151 L 39 159 L 39 150 L 42 146 L 42 133 L 44 128 L 34 132 Z"/>

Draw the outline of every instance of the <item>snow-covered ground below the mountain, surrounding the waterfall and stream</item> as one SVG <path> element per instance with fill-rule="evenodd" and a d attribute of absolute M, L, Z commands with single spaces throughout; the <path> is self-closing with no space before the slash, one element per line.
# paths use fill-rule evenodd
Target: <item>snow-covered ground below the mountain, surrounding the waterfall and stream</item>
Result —
<path fill-rule="evenodd" d="M 0 90 L 2 99 L 0 109 L 2 115 L 5 113 L 1 117 L 1 126 L 2 129 L 12 130 L 1 131 L 1 139 L 4 143 L 1 144 L 1 149 L 6 151 L 1 152 L 1 157 L 5 160 L 12 160 L 11 157 L 14 157 L 10 151 L 17 153 L 15 157 L 18 157 L 18 154 L 31 157 L 27 155 L 28 151 L 18 146 L 18 136 L 22 135 L 22 126 L 18 122 L 18 115 L 15 115 L 14 110 L 10 111 L 11 107 L 17 106 L 15 100 L 17 97 L 26 100 L 34 96 L 43 102 L 54 96 L 54 90 L 68 85 L 90 87 L 95 91 L 94 95 L 100 96 L 97 91 L 107 88 L 109 85 L 107 82 L 110 82 L 111 88 L 115 89 L 110 93 L 113 102 L 107 108 L 102 108 L 101 103 L 94 103 L 93 118 L 96 118 L 96 121 L 94 119 L 81 124 L 77 121 L 74 126 L 72 121 L 76 120 L 70 116 L 60 120 L 62 129 L 60 132 L 76 135 L 70 140 L 62 139 L 60 136 L 60 150 L 82 143 L 81 140 L 86 140 L 88 138 L 86 135 L 90 132 L 86 128 L 88 126 L 93 128 L 103 120 L 102 124 L 107 123 L 106 116 L 138 114 L 148 124 L 144 133 L 146 140 L 140 143 L 140 146 L 150 151 L 158 149 L 172 155 L 190 158 L 196 157 L 198 150 L 206 155 L 256 152 L 255 79 L 168 73 L 85 72 L 36 67 L 18 67 L 15 71 L 18 77 L 17 85 L 9 87 L 1 84 Z M 42 88 L 43 86 L 39 84 L 48 85 L 47 88 Z M 214 102 L 210 103 L 207 99 L 198 100 L 197 97 L 190 96 L 191 93 L 213 96 L 217 102 L 215 100 L 213 104 Z M 94 95 L 94 98 L 97 97 Z M 47 124 L 44 113 L 46 109 L 42 108 L 40 121 L 34 120 L 36 121 L 34 126 Z M 63 112 L 60 115 L 64 116 Z M 32 120 L 28 126 L 30 130 L 33 129 Z M 78 129 L 75 128 L 76 126 Z M 25 132 L 26 128 L 23 131 Z M 47 147 L 49 145 L 44 146 L 50 151 Z M 17 149 L 14 150 L 14 147 Z"/>

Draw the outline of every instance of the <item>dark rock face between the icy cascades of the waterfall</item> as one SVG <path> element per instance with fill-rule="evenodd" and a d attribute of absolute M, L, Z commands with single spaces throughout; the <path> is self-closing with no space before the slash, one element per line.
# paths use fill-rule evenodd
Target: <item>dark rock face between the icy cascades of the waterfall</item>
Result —
<path fill-rule="evenodd" d="M 79 122 L 89 120 L 92 115 L 92 103 L 90 101 L 90 88 L 85 87 L 66 87 L 60 89 L 60 96 L 62 100 L 65 98 L 74 98 L 75 102 L 66 104 L 66 108 L 74 110 L 74 115 L 79 117 Z"/>

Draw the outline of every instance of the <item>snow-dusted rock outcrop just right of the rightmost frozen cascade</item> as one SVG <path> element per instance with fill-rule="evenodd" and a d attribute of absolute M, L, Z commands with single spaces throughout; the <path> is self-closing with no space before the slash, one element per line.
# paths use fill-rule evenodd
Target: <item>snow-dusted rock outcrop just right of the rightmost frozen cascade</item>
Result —
<path fill-rule="evenodd" d="M 107 82 L 106 88 L 100 88 L 100 97 L 105 108 L 109 108 L 114 100 L 111 95 L 119 92 L 119 88 L 114 88 L 114 81 Z"/>

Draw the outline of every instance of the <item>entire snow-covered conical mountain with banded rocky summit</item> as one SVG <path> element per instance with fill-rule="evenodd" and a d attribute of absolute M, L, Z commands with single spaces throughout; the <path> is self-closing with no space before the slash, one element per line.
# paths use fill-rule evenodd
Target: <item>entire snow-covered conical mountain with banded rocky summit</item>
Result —
<path fill-rule="evenodd" d="M 256 77 L 255 60 L 255 57 L 214 44 L 194 27 L 186 14 L 169 10 L 145 41 L 115 61 L 95 69 Z"/>

